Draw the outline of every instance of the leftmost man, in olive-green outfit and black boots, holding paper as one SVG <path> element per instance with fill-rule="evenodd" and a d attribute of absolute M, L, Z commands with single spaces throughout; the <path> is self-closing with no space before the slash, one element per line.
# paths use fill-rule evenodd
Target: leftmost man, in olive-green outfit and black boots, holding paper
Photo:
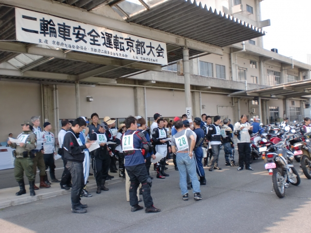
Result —
<path fill-rule="evenodd" d="M 33 126 L 30 121 L 25 120 L 21 125 L 23 132 L 17 136 L 20 143 L 7 141 L 13 151 L 14 161 L 14 176 L 19 185 L 19 191 L 16 196 L 26 193 L 24 183 L 24 171 L 29 181 L 30 196 L 35 196 L 35 175 L 33 173 L 33 157 L 35 154 L 32 152 L 36 148 L 36 136 L 33 133 Z"/>

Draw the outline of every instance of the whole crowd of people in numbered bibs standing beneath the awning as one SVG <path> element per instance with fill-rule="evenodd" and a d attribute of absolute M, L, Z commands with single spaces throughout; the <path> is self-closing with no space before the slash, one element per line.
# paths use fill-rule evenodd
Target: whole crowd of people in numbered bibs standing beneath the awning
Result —
<path fill-rule="evenodd" d="M 35 190 L 50 188 L 52 183 L 59 183 L 62 189 L 71 188 L 72 213 L 86 213 L 86 204 L 80 202 L 81 197 L 92 197 L 86 190 L 87 179 L 94 175 L 96 194 L 108 191 L 105 182 L 119 173 L 126 179 L 126 197 L 130 201 L 131 211 L 143 209 L 138 203 L 142 195 L 146 213 L 156 213 L 151 197 L 152 180 L 151 164 L 154 163 L 156 178 L 165 179 L 169 174 L 167 161 L 173 156 L 175 170 L 180 175 L 180 190 L 183 200 L 189 200 L 189 190 L 193 189 L 193 199 L 201 200 L 200 185 L 206 185 L 204 166 L 208 171 L 221 170 L 218 164 L 219 153 L 225 151 L 225 166 L 238 166 L 238 170 L 250 167 L 250 134 L 253 126 L 247 122 L 247 116 L 234 126 L 230 119 L 221 116 L 212 117 L 203 114 L 188 119 L 176 116 L 168 122 L 160 114 L 154 115 L 154 122 L 148 127 L 141 116 L 128 116 L 123 124 L 116 127 L 116 120 L 104 117 L 101 123 L 96 113 L 91 115 L 91 123 L 84 116 L 73 121 L 63 119 L 62 128 L 58 133 L 58 145 L 51 132 L 49 122 L 40 128 L 40 117 L 33 116 L 24 121 L 22 133 L 17 139 L 7 140 L 7 144 L 15 148 L 15 178 L 19 185 L 17 196 L 25 194 L 24 172 L 30 184 L 30 195 L 35 196 Z M 234 159 L 234 140 L 237 136 L 239 165 Z M 64 170 L 61 180 L 55 177 L 54 156 L 61 155 Z M 119 169 L 116 162 L 119 162 Z M 93 173 L 90 171 L 90 164 Z M 39 170 L 39 187 L 35 185 L 36 169 Z M 51 182 L 47 176 L 50 170 Z M 199 177 L 199 178 L 198 178 Z"/>

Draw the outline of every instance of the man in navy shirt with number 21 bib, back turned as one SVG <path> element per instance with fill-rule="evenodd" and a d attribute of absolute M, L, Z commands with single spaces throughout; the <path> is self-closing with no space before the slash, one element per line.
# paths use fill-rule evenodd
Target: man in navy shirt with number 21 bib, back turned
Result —
<path fill-rule="evenodd" d="M 142 197 L 145 204 L 145 213 L 160 212 L 155 208 L 150 194 L 152 180 L 149 178 L 145 166 L 144 156 L 148 153 L 150 144 L 148 144 L 145 135 L 139 131 L 137 119 L 134 116 L 125 118 L 127 131 L 121 137 L 122 150 L 125 157 L 125 169 L 130 177 L 130 205 L 131 211 L 142 210 L 143 207 L 138 205 L 137 189 L 141 183 Z"/>

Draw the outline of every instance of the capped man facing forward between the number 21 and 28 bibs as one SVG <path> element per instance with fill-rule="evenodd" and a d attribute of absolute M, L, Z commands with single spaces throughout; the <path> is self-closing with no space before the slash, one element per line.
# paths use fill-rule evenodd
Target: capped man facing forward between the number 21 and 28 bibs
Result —
<path fill-rule="evenodd" d="M 165 173 L 165 157 L 167 155 L 167 148 L 169 146 L 169 152 L 171 153 L 171 147 L 168 141 L 164 139 L 168 138 L 164 127 L 164 119 L 160 118 L 157 120 L 157 127 L 152 132 L 152 143 L 155 146 L 155 151 L 164 157 L 156 164 L 156 178 L 165 179 L 166 176 L 170 176 Z"/>

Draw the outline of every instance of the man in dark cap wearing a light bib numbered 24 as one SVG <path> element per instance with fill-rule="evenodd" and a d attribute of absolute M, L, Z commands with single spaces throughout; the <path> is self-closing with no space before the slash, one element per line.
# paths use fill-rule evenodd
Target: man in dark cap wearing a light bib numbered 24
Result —
<path fill-rule="evenodd" d="M 44 131 L 41 134 L 43 139 L 43 158 L 45 163 L 45 169 L 47 170 L 50 167 L 50 177 L 52 183 L 60 183 L 59 180 L 55 177 L 55 163 L 54 163 L 54 154 L 55 153 L 55 137 L 51 133 L 52 125 L 50 122 L 44 122 L 43 124 Z"/>

